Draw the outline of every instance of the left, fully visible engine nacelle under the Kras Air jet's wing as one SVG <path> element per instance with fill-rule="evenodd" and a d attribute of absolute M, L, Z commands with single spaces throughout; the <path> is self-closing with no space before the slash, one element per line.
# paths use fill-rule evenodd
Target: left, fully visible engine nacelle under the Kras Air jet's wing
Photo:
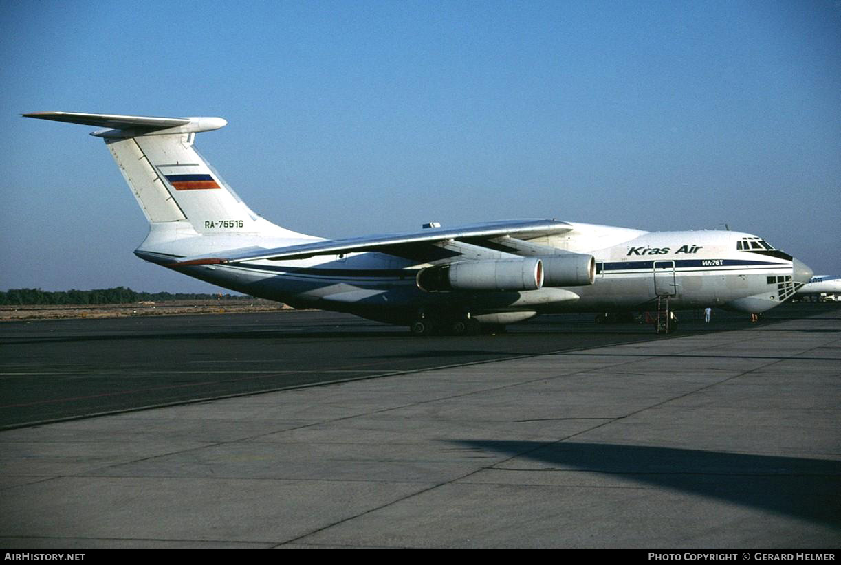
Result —
<path fill-rule="evenodd" d="M 451 290 L 537 290 L 543 285 L 543 263 L 535 257 L 524 257 L 426 267 L 418 272 L 417 285 L 427 293 Z"/>

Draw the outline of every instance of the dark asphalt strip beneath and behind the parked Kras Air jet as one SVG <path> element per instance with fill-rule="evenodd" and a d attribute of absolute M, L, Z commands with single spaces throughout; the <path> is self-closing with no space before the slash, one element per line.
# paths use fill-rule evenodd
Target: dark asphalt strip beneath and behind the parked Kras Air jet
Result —
<path fill-rule="evenodd" d="M 764 323 L 815 309 L 787 304 Z M 723 311 L 710 325 L 680 317 L 680 335 L 749 326 Z M 592 314 L 460 339 L 315 311 L 11 322 L 0 324 L 0 429 L 654 339 L 664 337 L 651 325 L 596 325 Z"/>

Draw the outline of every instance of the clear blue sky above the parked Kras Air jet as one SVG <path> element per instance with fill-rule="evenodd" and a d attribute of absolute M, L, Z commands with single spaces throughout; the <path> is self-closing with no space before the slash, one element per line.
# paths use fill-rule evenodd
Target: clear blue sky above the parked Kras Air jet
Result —
<path fill-rule="evenodd" d="M 252 209 L 325 237 L 508 218 L 764 236 L 841 274 L 841 3 L 0 3 L 0 289 L 209 291 L 137 259 L 93 128 L 210 115 Z"/>

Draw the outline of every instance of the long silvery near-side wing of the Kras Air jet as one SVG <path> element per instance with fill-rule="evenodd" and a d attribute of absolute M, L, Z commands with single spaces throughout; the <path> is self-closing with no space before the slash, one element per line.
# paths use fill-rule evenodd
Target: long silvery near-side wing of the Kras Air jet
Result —
<path fill-rule="evenodd" d="M 214 265 L 241 261 L 258 261 L 261 259 L 291 261 L 294 259 L 306 259 L 316 255 L 341 255 L 360 251 L 383 251 L 385 253 L 398 254 L 401 248 L 410 248 L 418 244 L 434 244 L 453 240 L 470 240 L 470 242 L 476 242 L 478 240 L 491 240 L 504 235 L 510 235 L 521 240 L 530 240 L 544 235 L 563 234 L 569 230 L 572 230 L 571 225 L 553 219 L 489 222 L 457 228 L 429 228 L 403 234 L 368 235 L 346 240 L 320 240 L 299 246 L 278 247 L 260 251 L 255 251 L 253 248 L 247 251 L 235 250 L 225 256 L 187 257 L 182 261 L 174 262 L 172 265 Z"/>

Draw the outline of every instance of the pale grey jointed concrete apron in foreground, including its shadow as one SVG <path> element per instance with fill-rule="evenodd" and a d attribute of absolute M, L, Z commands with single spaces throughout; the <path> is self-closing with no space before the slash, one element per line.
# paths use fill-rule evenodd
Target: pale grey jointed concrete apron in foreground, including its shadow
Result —
<path fill-rule="evenodd" d="M 838 548 L 812 312 L 6 430 L 0 546 Z"/>

